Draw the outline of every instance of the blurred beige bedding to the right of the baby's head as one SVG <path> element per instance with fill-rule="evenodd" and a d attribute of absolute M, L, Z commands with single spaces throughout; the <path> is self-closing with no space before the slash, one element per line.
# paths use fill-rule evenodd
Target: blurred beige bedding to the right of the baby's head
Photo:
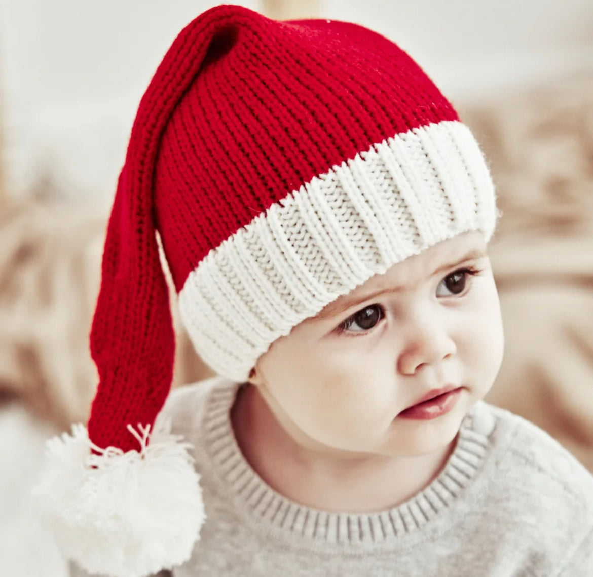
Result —
<path fill-rule="evenodd" d="M 503 212 L 490 258 L 505 358 L 486 400 L 593 471 L 593 78 L 468 108 Z"/>

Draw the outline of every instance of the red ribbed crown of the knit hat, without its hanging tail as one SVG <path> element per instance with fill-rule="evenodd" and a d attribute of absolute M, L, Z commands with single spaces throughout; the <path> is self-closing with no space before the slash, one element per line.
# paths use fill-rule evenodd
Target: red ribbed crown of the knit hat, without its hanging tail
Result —
<path fill-rule="evenodd" d="M 366 28 L 260 17 L 219 34 L 222 53 L 179 103 L 156 166 L 177 290 L 208 251 L 314 176 L 387 137 L 458 118 L 406 53 Z"/>

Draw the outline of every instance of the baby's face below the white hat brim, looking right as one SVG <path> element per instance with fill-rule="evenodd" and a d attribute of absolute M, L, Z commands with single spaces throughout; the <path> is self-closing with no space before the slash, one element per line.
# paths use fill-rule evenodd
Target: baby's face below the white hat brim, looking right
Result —
<path fill-rule="evenodd" d="M 484 256 L 454 264 L 470 251 Z M 461 271 L 472 267 L 481 272 Z M 377 291 L 384 292 L 371 296 Z M 503 348 L 486 244 L 482 233 L 465 233 L 375 275 L 295 326 L 259 358 L 251 382 L 308 447 L 418 456 L 455 438 L 495 381 Z M 398 416 L 448 384 L 463 386 L 448 413 Z"/>

